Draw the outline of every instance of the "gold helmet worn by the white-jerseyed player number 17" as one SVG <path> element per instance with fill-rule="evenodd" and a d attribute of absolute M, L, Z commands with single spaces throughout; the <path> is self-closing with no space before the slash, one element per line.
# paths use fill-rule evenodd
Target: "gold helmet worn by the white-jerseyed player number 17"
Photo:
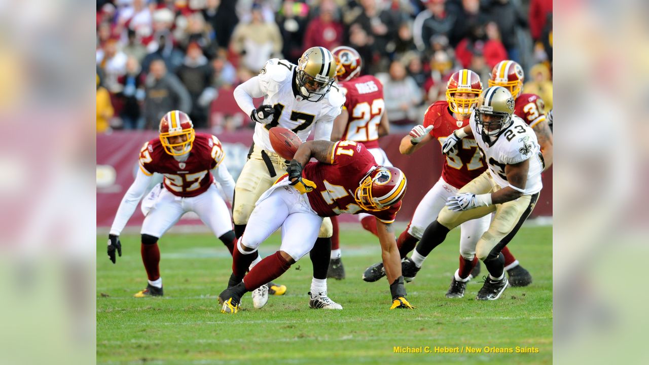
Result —
<path fill-rule="evenodd" d="M 308 101 L 321 101 L 336 79 L 336 60 L 324 47 L 311 47 L 297 62 L 297 86 Z"/>

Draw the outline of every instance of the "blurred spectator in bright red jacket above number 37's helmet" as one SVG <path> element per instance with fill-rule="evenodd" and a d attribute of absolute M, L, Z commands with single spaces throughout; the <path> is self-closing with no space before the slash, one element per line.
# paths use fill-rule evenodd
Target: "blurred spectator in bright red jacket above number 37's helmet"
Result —
<path fill-rule="evenodd" d="M 498 62 L 507 59 L 507 51 L 497 38 L 498 26 L 495 23 L 489 23 L 489 35 L 485 34 L 485 27 L 480 24 L 474 24 L 469 36 L 459 42 L 455 49 L 455 57 L 462 68 L 471 66 L 471 58 L 474 53 L 484 55 L 485 61 L 489 68 L 493 68 Z"/>

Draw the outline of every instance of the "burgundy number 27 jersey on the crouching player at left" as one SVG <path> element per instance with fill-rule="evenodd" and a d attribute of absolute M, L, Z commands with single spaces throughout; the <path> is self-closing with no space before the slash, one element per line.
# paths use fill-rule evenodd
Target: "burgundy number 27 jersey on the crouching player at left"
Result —
<path fill-rule="evenodd" d="M 211 134 L 196 133 L 190 155 L 179 162 L 164 151 L 159 138 L 146 142 L 140 151 L 143 173 L 164 175 L 164 186 L 171 194 L 192 197 L 205 192 L 214 181 L 210 170 L 225 158 L 221 142 Z"/>

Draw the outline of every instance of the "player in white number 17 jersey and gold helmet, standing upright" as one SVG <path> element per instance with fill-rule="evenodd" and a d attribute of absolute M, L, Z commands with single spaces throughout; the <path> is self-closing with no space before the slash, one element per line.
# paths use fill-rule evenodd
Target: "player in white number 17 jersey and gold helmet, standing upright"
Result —
<path fill-rule="evenodd" d="M 312 47 L 304 52 L 297 66 L 278 58 L 268 60 L 259 75 L 234 90 L 239 108 L 257 122 L 248 160 L 234 189 L 232 216 L 237 238 L 245 231 L 260 195 L 286 170 L 286 160 L 273 150 L 269 129 L 275 126 L 291 129 L 302 141 L 306 141 L 313 130 L 315 140 L 330 140 L 334 119 L 345 103 L 345 95 L 334 82 L 335 77 L 336 61 L 331 52 L 323 47 Z M 252 98 L 262 96 L 263 103 L 256 108 Z M 270 212 L 273 209 L 267 213 Z M 330 255 L 331 235 L 331 220 L 326 218 L 315 243 L 313 257 Z M 326 282 L 328 264 L 328 260 L 324 264 L 313 262 L 314 283 Z M 286 292 L 286 286 L 269 284 L 271 294 Z M 267 292 L 266 286 L 260 286 L 253 293 L 256 308 L 263 307 Z"/>

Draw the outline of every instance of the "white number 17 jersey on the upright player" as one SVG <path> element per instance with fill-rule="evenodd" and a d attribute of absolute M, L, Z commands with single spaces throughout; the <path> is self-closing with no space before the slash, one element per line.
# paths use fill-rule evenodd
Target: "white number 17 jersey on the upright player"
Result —
<path fill-rule="evenodd" d="M 268 60 L 257 77 L 262 90 L 264 105 L 279 105 L 282 114 L 271 123 L 257 123 L 252 140 L 267 151 L 274 151 L 268 131 L 280 126 L 295 132 L 302 142 L 306 141 L 315 127 L 315 139 L 329 140 L 334 119 L 341 113 L 345 104 L 345 94 L 334 82 L 321 101 L 302 99 L 295 84 L 297 66 L 287 60 L 272 58 Z"/>

